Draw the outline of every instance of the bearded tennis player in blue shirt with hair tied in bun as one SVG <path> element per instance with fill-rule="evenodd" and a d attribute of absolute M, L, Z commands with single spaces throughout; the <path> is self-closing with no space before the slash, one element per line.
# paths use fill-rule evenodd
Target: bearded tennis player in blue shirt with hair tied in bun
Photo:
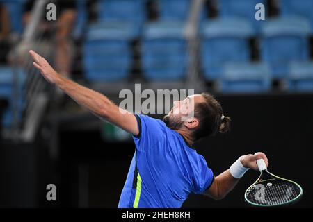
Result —
<path fill-rule="evenodd" d="M 257 159 L 268 160 L 264 153 L 243 155 L 223 173 L 214 176 L 206 160 L 193 144 L 202 137 L 226 133 L 230 117 L 207 93 L 175 101 L 163 121 L 143 114 L 120 112 L 106 96 L 58 74 L 40 55 L 29 51 L 33 65 L 49 83 L 60 87 L 74 101 L 131 133 L 136 151 L 120 196 L 118 207 L 181 207 L 189 194 L 204 194 L 221 199 L 230 192 L 248 169 L 257 170 Z M 193 99 L 193 117 L 182 121 Z"/>

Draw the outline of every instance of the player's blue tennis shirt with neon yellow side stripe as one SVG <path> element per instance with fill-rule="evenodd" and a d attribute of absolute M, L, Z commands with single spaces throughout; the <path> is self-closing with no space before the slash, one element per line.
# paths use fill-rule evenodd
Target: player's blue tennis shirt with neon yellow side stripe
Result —
<path fill-rule="evenodd" d="M 184 137 L 152 117 L 136 115 L 136 151 L 120 196 L 119 208 L 182 207 L 189 194 L 202 194 L 214 174 Z"/>

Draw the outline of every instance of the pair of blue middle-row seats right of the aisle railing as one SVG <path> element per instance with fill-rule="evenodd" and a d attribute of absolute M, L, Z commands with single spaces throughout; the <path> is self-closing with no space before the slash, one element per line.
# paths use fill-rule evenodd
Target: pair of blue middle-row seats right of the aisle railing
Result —
<path fill-rule="evenodd" d="M 273 78 L 284 78 L 287 65 L 310 59 L 310 24 L 300 17 L 268 20 L 259 35 L 260 60 L 271 65 Z M 202 71 L 207 80 L 221 75 L 225 62 L 250 60 L 249 24 L 241 19 L 216 19 L 200 28 Z"/>

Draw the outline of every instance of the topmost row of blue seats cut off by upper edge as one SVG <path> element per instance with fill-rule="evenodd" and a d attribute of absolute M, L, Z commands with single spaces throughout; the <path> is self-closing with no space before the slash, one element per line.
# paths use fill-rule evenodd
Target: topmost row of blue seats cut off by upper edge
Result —
<path fill-rule="evenodd" d="M 159 17 L 157 22 L 164 21 L 181 21 L 185 22 L 191 9 L 191 0 L 155 0 L 159 9 Z M 218 18 L 220 19 L 244 19 L 250 24 L 255 32 L 261 31 L 262 24 L 266 22 L 268 10 L 268 1 L 266 0 L 218 0 Z M 264 13 L 266 20 L 255 19 L 255 8 L 259 3 L 264 5 Z M 147 0 L 99 0 L 98 1 L 98 17 L 99 22 L 118 22 L 128 24 L 132 29 L 136 30 L 134 37 L 140 36 L 141 30 L 147 23 Z M 282 0 L 280 1 L 281 17 L 303 17 L 307 19 L 313 29 L 313 16 L 311 9 L 313 1 L 304 0 L 298 3 L 298 0 Z M 200 21 L 212 19 L 208 17 L 209 10 L 203 7 L 200 11 Z M 214 18 L 213 18 L 214 19 Z M 108 32 L 113 31 L 108 29 Z"/>

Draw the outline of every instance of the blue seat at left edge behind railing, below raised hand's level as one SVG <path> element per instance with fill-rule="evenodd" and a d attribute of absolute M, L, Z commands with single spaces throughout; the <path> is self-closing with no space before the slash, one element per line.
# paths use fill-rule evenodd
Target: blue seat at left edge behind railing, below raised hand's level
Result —
<path fill-rule="evenodd" d="M 25 81 L 25 74 L 22 69 L 17 69 L 18 74 L 18 87 L 19 94 L 22 95 L 22 87 Z M 2 125 L 8 127 L 13 121 L 13 69 L 11 67 L 0 67 L 0 96 L 8 99 L 9 105 L 3 116 Z M 19 98 L 19 118 L 22 117 L 22 104 L 24 103 L 23 98 Z"/>

